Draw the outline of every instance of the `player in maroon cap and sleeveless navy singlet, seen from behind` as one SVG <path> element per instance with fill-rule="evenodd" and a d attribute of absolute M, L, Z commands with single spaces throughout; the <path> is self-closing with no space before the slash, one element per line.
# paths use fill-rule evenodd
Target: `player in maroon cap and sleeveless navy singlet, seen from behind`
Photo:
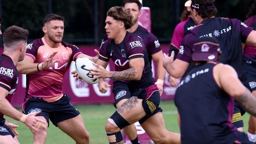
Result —
<path fill-rule="evenodd" d="M 180 114 L 182 144 L 252 144 L 231 124 L 234 99 L 256 116 L 256 98 L 229 65 L 219 63 L 223 48 L 213 37 L 193 46 L 195 67 L 179 84 L 175 105 Z"/>

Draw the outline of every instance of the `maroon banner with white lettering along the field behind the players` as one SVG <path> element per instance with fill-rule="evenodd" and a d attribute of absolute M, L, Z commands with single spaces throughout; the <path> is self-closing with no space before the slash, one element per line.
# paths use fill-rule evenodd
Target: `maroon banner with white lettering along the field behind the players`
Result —
<path fill-rule="evenodd" d="M 169 45 L 162 46 L 163 52 L 169 51 Z M 87 55 L 96 55 L 94 49 L 98 49 L 98 46 L 80 46 L 80 50 Z M 2 54 L 3 48 L 0 48 L 0 54 Z M 153 76 L 156 77 L 156 63 L 152 65 Z M 107 70 L 114 71 L 113 61 L 109 61 Z M 98 91 L 98 84 L 91 85 L 85 82 L 77 81 L 72 77 L 71 71 L 75 70 L 74 62 L 71 63 L 69 70 L 66 72 L 63 79 L 63 93 L 68 94 L 71 97 L 71 103 L 84 104 L 84 103 L 113 103 L 114 96 L 112 94 L 113 79 L 106 79 L 111 84 L 111 88 L 105 94 Z M 169 86 L 168 74 L 165 74 L 165 82 L 163 87 L 162 100 L 173 99 L 173 94 L 176 90 L 174 87 Z M 26 75 L 20 74 L 19 83 L 15 94 L 11 100 L 11 104 L 14 106 L 21 106 L 24 100 L 26 90 Z"/>

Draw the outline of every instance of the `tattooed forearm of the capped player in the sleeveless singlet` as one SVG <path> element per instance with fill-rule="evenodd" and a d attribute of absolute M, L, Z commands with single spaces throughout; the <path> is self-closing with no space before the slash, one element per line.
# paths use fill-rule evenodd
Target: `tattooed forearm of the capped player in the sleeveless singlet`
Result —
<path fill-rule="evenodd" d="M 239 105 L 249 114 L 256 116 L 256 98 L 246 89 L 245 93 L 237 98 Z"/>

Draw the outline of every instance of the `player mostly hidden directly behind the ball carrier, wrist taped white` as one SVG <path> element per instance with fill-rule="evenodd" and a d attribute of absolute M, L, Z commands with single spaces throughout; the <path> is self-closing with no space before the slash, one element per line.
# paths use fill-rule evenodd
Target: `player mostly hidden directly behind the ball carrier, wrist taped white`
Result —
<path fill-rule="evenodd" d="M 125 9 L 131 12 L 133 16 L 133 22 L 134 22 L 134 25 L 131 28 L 129 28 L 127 31 L 141 38 L 141 41 L 145 44 L 150 66 L 152 63 L 152 58 L 157 63 L 158 80 L 156 81 L 156 85 L 161 95 L 163 92 L 163 81 L 165 78 L 165 69 L 163 68 L 163 52 L 161 50 L 160 43 L 158 42 L 158 39 L 155 35 L 153 35 L 151 32 L 149 32 L 142 26 L 139 26 L 138 18 L 141 15 L 140 10 L 142 7 L 142 4 L 139 2 L 139 0 L 124 0 L 123 6 Z M 105 35 L 104 41 L 108 39 L 107 36 L 108 35 Z M 124 54 L 124 51 L 123 51 L 123 54 Z M 100 79 L 100 82 L 99 82 L 100 92 L 102 93 L 107 92 L 109 86 L 110 85 L 106 83 L 103 79 Z M 115 105 L 117 108 L 120 107 L 122 103 L 124 103 L 126 100 L 128 100 L 131 97 L 131 93 L 128 89 L 128 86 L 124 81 L 119 81 L 119 80 L 114 81 L 113 93 L 114 93 Z M 126 135 L 130 138 L 132 144 L 139 143 L 137 138 L 137 130 L 134 124 L 124 127 L 124 131 Z"/>

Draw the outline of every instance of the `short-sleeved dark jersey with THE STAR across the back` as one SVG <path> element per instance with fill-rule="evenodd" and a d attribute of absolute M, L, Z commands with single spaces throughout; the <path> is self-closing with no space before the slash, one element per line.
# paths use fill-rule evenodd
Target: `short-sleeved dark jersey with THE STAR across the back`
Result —
<path fill-rule="evenodd" d="M 199 37 L 215 37 L 219 41 L 222 52 L 220 62 L 232 66 L 236 70 L 239 79 L 247 84 L 243 70 L 241 42 L 245 43 L 252 30 L 237 19 L 217 17 L 205 19 L 184 37 L 177 59 L 189 63 L 195 41 Z M 247 87 L 249 86 L 247 85 Z"/>

